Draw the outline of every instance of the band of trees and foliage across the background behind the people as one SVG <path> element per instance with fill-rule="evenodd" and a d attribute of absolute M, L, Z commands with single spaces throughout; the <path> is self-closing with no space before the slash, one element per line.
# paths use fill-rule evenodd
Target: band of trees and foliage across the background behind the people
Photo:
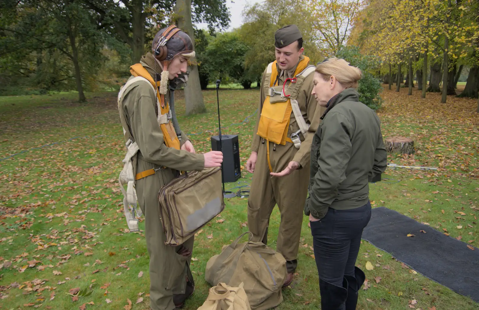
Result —
<path fill-rule="evenodd" d="M 422 98 L 442 92 L 442 102 L 478 98 L 477 0 L 265 0 L 246 7 L 244 23 L 230 32 L 226 0 L 0 3 L 0 95 L 77 91 L 83 102 L 85 91 L 119 89 L 155 33 L 174 22 L 197 52 L 186 114 L 205 112 L 201 89 L 217 78 L 258 86 L 274 60 L 274 32 L 295 21 L 312 64 L 336 55 L 361 67 L 361 99 L 375 110 L 381 82 L 410 94 L 417 83 Z M 199 22 L 208 29 L 196 28 Z"/>

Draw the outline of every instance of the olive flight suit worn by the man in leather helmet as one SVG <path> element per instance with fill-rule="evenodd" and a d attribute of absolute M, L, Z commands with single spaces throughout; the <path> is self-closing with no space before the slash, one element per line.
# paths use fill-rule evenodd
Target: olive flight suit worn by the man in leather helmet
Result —
<path fill-rule="evenodd" d="M 151 68 L 143 62 L 141 64 L 154 76 Z M 165 97 L 168 98 L 168 94 Z M 194 237 L 180 246 L 165 245 L 158 192 L 163 185 L 178 176 L 179 170 L 202 170 L 205 165 L 204 155 L 176 150 L 163 143 L 163 133 L 157 121 L 156 94 L 147 83 L 137 82 L 136 87 L 124 94 L 120 112 L 139 148 L 137 158 L 133 160 L 134 174 L 151 168 L 166 167 L 154 175 L 137 180 L 136 190 L 138 204 L 145 215 L 145 235 L 150 258 L 150 306 L 153 310 L 172 310 L 175 309 L 173 294 L 185 293 L 186 277 L 194 284 L 189 268 Z M 182 133 L 181 144 L 187 139 Z M 185 251 L 185 248 L 190 252 L 190 255 L 186 255 L 188 257 L 178 254 L 180 250 Z"/>

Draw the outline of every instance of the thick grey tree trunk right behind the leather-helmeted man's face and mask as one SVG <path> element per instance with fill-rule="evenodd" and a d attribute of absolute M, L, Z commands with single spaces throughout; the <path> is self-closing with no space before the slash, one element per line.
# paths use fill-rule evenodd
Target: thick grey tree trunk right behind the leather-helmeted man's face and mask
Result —
<path fill-rule="evenodd" d="M 193 42 L 194 49 L 194 29 L 191 21 L 191 0 L 177 0 L 174 12 L 178 15 L 177 26 L 187 33 Z M 198 75 L 198 66 L 196 59 L 190 59 L 188 69 L 190 76 L 188 84 L 184 88 L 184 99 L 186 102 L 186 115 L 205 113 L 206 107 L 201 93 L 200 77 Z"/>

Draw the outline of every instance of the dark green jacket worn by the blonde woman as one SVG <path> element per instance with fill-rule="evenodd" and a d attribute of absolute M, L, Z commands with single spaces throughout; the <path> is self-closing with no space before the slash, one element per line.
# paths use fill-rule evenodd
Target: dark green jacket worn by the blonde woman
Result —
<path fill-rule="evenodd" d="M 388 155 L 376 113 L 356 89 L 331 98 L 311 144 L 309 197 L 305 214 L 322 219 L 329 208 L 364 206 L 368 179 L 386 170 Z"/>

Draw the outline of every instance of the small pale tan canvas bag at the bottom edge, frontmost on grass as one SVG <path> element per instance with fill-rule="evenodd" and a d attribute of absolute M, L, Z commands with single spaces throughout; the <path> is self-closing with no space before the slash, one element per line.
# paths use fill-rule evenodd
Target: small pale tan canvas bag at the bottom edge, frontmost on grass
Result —
<path fill-rule="evenodd" d="M 219 283 L 210 288 L 208 298 L 198 310 L 251 310 L 251 307 L 243 283 L 238 288 Z"/>

